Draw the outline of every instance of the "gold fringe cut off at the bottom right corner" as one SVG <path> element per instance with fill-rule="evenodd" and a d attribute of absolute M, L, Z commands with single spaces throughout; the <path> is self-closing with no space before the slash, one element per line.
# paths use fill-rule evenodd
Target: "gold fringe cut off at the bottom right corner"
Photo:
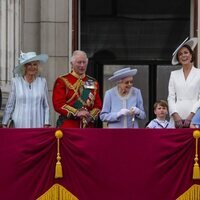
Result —
<path fill-rule="evenodd" d="M 200 185 L 193 185 L 176 200 L 200 200 Z"/>

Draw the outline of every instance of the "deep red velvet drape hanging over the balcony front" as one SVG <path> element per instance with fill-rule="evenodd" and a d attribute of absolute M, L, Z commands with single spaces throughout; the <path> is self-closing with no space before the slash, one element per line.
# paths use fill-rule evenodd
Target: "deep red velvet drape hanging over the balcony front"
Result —
<path fill-rule="evenodd" d="M 80 200 L 175 200 L 193 184 L 193 129 L 0 129 L 0 199 L 35 200 L 59 183 Z M 199 154 L 200 155 L 200 154 Z"/>

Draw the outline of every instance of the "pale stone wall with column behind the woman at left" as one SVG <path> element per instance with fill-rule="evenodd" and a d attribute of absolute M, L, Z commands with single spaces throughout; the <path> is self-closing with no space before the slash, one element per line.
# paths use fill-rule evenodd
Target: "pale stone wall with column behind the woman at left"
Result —
<path fill-rule="evenodd" d="M 20 50 L 48 54 L 42 69 L 48 82 L 52 126 L 57 118 L 51 100 L 53 84 L 69 69 L 69 1 L 0 0 L 0 86 L 4 97 L 8 96 Z"/>

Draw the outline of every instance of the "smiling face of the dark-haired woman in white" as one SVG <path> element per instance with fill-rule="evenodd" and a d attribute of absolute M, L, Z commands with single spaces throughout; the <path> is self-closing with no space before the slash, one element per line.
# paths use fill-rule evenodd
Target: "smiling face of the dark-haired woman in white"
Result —
<path fill-rule="evenodd" d="M 187 65 L 191 63 L 192 54 L 190 53 L 188 48 L 182 47 L 178 51 L 178 60 L 182 65 Z"/>

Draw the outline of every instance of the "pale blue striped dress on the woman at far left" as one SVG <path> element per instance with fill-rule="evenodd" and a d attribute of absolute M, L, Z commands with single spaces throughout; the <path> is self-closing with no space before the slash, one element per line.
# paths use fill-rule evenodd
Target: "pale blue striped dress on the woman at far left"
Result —
<path fill-rule="evenodd" d="M 45 78 L 37 77 L 31 84 L 23 77 L 12 79 L 2 124 L 7 124 L 11 116 L 15 128 L 42 128 L 44 124 L 50 124 Z"/>

